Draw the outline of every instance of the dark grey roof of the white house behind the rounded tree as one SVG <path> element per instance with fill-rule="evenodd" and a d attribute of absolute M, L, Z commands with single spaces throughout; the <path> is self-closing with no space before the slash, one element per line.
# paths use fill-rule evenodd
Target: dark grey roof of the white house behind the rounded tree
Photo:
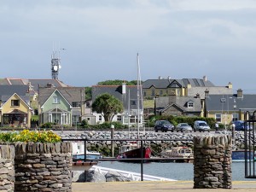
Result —
<path fill-rule="evenodd" d="M 94 85 L 92 86 L 92 102 L 95 101 L 96 96 L 100 96 L 103 93 L 108 93 L 116 98 L 118 98 L 124 105 L 124 108 L 128 108 L 129 104 L 129 90 L 130 90 L 130 109 L 137 109 L 137 85 L 125 85 L 126 93 L 122 94 L 122 85 Z M 131 102 L 134 101 L 136 105 L 132 105 Z M 140 101 L 140 108 L 142 107 L 142 102 Z"/>

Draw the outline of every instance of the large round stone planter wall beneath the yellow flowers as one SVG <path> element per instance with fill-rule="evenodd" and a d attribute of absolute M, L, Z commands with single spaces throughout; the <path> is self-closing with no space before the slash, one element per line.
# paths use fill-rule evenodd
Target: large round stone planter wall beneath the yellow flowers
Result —
<path fill-rule="evenodd" d="M 71 143 L 15 143 L 15 192 L 72 191 Z"/>

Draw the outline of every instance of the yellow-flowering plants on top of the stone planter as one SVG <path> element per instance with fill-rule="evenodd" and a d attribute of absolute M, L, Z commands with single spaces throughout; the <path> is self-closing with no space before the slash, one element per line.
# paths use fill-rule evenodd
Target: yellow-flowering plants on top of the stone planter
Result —
<path fill-rule="evenodd" d="M 34 142 L 34 143 L 58 143 L 61 137 L 53 131 L 9 131 L 0 133 L 2 142 Z"/>

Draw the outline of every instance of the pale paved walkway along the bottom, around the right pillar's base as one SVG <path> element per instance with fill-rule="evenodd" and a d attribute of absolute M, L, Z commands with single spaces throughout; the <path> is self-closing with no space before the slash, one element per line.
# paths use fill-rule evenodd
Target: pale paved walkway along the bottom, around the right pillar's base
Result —
<path fill-rule="evenodd" d="M 189 192 L 205 191 L 206 189 L 193 189 L 193 181 L 150 181 L 150 182 L 108 182 L 108 183 L 73 183 L 73 192 Z M 227 192 L 229 189 L 207 189 L 207 192 Z M 232 189 L 236 192 L 256 191 L 255 181 L 234 181 Z"/>

